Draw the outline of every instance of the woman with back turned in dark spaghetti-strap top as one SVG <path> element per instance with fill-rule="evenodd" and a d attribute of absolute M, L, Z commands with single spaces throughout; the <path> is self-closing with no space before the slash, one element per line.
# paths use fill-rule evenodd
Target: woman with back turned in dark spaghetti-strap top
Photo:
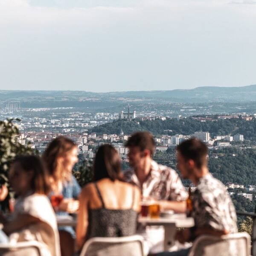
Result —
<path fill-rule="evenodd" d="M 99 147 L 94 182 L 80 195 L 76 227 L 78 249 L 92 237 L 131 236 L 136 232 L 140 190 L 122 181 L 119 154 L 111 145 Z"/>

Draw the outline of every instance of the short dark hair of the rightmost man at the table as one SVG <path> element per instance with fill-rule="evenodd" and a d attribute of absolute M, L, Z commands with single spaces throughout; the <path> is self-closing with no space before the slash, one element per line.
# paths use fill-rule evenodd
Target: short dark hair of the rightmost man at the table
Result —
<path fill-rule="evenodd" d="M 177 146 L 177 151 L 186 160 L 193 160 L 197 168 L 201 168 L 207 161 L 207 145 L 196 138 L 185 140 Z"/>

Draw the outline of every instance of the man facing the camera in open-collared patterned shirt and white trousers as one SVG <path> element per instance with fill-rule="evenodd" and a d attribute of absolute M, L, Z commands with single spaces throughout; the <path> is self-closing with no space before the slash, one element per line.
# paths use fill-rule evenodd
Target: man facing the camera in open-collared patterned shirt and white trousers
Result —
<path fill-rule="evenodd" d="M 152 160 L 155 151 L 152 135 L 137 132 L 129 138 L 126 146 L 132 169 L 125 173 L 125 180 L 141 189 L 143 200 L 153 199 L 162 209 L 185 212 L 187 194 L 177 172 Z M 139 233 L 144 236 L 147 250 L 152 253 L 163 250 L 163 227 L 140 228 Z"/>

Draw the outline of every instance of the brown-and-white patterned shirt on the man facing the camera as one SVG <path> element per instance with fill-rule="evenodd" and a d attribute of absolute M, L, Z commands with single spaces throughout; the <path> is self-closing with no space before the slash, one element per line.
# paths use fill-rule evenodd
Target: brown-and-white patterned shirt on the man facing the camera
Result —
<path fill-rule="evenodd" d="M 151 161 L 151 171 L 145 182 L 140 184 L 134 170 L 125 172 L 125 180 L 137 185 L 142 191 L 143 198 L 155 200 L 184 201 L 187 193 L 180 177 L 175 170 Z"/>

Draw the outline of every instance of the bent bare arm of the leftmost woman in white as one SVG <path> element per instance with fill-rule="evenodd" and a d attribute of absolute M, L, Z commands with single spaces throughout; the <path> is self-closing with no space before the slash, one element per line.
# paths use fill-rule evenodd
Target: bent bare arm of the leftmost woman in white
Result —
<path fill-rule="evenodd" d="M 22 229 L 23 227 L 28 226 L 29 224 L 35 224 L 36 222 L 40 222 L 40 219 L 35 218 L 29 214 L 19 214 L 14 220 L 5 222 L 3 231 L 6 234 L 11 234 L 17 230 Z"/>

